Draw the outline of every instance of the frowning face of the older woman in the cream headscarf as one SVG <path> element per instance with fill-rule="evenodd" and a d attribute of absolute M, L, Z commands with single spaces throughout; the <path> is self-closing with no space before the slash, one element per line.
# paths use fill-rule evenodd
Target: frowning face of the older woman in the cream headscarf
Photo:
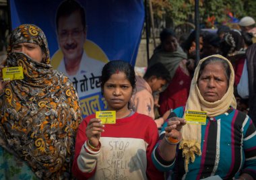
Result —
<path fill-rule="evenodd" d="M 207 64 L 197 85 L 205 101 L 214 102 L 222 99 L 228 89 L 228 81 L 222 63 Z"/>

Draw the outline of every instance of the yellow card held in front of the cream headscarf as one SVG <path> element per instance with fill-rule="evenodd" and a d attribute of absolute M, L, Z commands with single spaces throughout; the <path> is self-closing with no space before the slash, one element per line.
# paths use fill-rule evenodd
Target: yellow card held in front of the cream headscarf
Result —
<path fill-rule="evenodd" d="M 185 120 L 188 124 L 206 124 L 206 112 L 205 111 L 185 111 Z"/>

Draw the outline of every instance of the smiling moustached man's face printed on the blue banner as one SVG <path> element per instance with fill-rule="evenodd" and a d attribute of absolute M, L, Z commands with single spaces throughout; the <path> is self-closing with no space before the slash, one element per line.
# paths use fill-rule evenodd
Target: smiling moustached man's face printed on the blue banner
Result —
<path fill-rule="evenodd" d="M 82 25 L 79 11 L 75 11 L 69 16 L 59 17 L 58 25 L 59 46 L 65 60 L 82 58 L 86 30 Z"/>

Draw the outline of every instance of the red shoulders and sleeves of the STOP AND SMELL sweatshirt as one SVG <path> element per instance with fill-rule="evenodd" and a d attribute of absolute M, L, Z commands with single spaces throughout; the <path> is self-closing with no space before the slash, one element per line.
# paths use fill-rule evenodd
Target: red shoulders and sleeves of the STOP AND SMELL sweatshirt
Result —
<path fill-rule="evenodd" d="M 84 118 L 77 130 L 76 142 L 75 142 L 75 159 L 73 161 L 72 173 L 77 179 L 88 179 L 92 177 L 95 170 L 92 173 L 83 173 L 79 170 L 77 165 L 77 157 L 80 150 L 86 142 L 86 127 L 90 119 L 95 118 L 95 114 Z M 151 159 L 152 150 L 158 141 L 158 129 L 156 123 L 152 118 L 143 114 L 133 114 L 133 116 L 122 118 L 117 120 L 116 124 L 105 124 L 102 137 L 116 137 L 116 138 L 141 138 L 147 142 L 146 158 L 147 158 L 147 170 L 146 174 L 148 179 L 164 179 L 162 172 L 158 171 Z M 134 146 L 136 148 L 136 146 Z M 132 158 L 132 157 L 131 157 Z"/>

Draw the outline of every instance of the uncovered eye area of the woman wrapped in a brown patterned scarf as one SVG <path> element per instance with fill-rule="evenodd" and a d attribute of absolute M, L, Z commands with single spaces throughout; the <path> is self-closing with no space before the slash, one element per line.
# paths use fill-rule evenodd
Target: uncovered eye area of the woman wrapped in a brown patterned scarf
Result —
<path fill-rule="evenodd" d="M 32 58 L 36 62 L 42 62 L 42 49 L 38 44 L 33 43 L 19 43 L 14 44 L 11 48 L 11 52 L 23 52 Z"/>

